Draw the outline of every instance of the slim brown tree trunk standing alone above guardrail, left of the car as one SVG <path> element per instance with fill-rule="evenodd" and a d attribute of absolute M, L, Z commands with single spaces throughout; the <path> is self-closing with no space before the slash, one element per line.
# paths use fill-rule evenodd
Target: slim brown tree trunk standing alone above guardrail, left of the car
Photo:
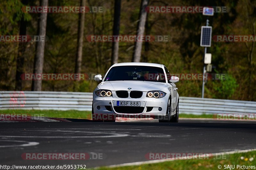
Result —
<path fill-rule="evenodd" d="M 85 6 L 85 0 L 80 0 L 80 6 Z M 77 50 L 76 50 L 76 66 L 75 73 L 81 72 L 82 56 L 83 56 L 83 42 L 84 42 L 84 16 L 85 13 L 79 13 L 78 20 L 78 34 L 77 34 Z M 76 89 L 76 82 L 74 84 L 74 90 Z"/>

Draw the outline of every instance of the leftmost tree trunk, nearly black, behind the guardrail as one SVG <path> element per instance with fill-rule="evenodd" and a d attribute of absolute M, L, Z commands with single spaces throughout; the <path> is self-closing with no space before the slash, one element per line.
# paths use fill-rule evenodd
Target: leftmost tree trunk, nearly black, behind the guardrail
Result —
<path fill-rule="evenodd" d="M 28 0 L 22 0 L 22 4 L 28 5 Z M 27 21 L 22 16 L 20 20 L 20 35 L 27 34 Z M 16 59 L 16 77 L 15 77 L 15 90 L 22 90 L 21 74 L 24 73 L 24 53 L 26 51 L 26 42 L 20 42 L 18 47 L 18 55 Z"/>

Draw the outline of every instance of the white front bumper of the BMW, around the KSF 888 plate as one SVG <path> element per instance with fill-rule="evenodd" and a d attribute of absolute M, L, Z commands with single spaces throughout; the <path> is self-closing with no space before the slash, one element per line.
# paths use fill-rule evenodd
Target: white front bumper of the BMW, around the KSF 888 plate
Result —
<path fill-rule="evenodd" d="M 99 97 L 93 93 L 94 114 L 165 116 L 169 99 L 168 94 L 162 98 L 146 97 L 146 94 L 147 92 L 143 92 L 140 98 L 130 98 L 130 96 L 128 98 L 119 98 L 116 96 L 115 91 L 112 91 L 113 96 L 110 97 Z M 124 108 L 120 108 L 123 106 L 117 106 L 117 101 L 140 101 L 140 108 L 138 108 L 138 106 L 126 106 Z M 159 111 L 159 108 L 162 108 L 162 110 Z M 137 113 L 129 113 L 129 109 L 131 109 L 133 112 L 136 112 L 137 110 L 139 111 L 137 111 Z"/>

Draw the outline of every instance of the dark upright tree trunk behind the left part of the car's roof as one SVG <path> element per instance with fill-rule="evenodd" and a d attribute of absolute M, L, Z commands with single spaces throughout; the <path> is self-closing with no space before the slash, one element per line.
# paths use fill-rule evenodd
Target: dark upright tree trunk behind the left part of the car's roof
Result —
<path fill-rule="evenodd" d="M 121 0 L 115 0 L 115 13 L 114 13 L 114 25 L 113 35 L 119 35 L 120 29 L 120 12 L 121 12 Z M 119 42 L 112 43 L 112 65 L 118 62 L 118 48 Z"/>

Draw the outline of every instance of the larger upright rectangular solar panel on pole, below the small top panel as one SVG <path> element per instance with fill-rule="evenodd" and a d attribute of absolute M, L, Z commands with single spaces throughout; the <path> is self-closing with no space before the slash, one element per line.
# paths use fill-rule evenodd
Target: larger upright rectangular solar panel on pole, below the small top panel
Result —
<path fill-rule="evenodd" d="M 201 42 L 200 46 L 210 47 L 212 41 L 212 27 L 202 26 L 201 27 Z"/>

